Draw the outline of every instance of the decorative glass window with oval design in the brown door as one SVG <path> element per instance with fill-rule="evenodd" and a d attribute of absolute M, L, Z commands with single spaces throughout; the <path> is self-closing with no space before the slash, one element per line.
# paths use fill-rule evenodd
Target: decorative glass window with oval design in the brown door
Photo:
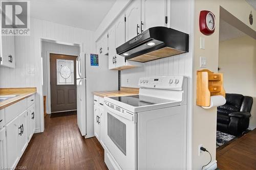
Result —
<path fill-rule="evenodd" d="M 74 61 L 57 59 L 57 85 L 74 85 Z"/>

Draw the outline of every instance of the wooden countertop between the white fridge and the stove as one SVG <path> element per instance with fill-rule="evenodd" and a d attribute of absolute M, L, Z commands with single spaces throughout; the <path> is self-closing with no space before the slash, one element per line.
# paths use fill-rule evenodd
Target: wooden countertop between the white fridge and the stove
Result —
<path fill-rule="evenodd" d="M 134 95 L 139 94 L 139 88 L 121 87 L 120 90 L 114 91 L 94 91 L 93 94 L 101 98 L 104 98 L 106 96 Z"/>

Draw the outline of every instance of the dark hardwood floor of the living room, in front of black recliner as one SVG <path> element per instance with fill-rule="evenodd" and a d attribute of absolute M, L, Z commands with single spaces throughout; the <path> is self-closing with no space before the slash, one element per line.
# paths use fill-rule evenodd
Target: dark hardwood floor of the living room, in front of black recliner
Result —
<path fill-rule="evenodd" d="M 220 169 L 256 169 L 256 129 L 217 150 Z"/>

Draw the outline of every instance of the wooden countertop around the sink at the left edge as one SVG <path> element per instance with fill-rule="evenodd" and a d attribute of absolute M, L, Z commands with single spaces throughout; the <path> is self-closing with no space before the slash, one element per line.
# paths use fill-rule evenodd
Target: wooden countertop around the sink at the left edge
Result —
<path fill-rule="evenodd" d="M 17 103 L 23 99 L 36 93 L 36 87 L 28 88 L 0 88 L 0 95 L 17 95 L 14 98 L 8 99 L 4 102 L 0 102 L 0 110 L 4 109 L 14 103 Z"/>

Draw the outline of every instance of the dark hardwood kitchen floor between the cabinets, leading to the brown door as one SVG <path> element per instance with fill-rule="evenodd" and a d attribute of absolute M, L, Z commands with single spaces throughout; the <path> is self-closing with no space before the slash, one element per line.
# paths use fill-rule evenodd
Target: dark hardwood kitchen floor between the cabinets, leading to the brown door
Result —
<path fill-rule="evenodd" d="M 17 166 L 27 169 L 108 169 L 104 150 L 81 136 L 76 115 L 45 117 L 45 132 L 34 134 Z"/>

